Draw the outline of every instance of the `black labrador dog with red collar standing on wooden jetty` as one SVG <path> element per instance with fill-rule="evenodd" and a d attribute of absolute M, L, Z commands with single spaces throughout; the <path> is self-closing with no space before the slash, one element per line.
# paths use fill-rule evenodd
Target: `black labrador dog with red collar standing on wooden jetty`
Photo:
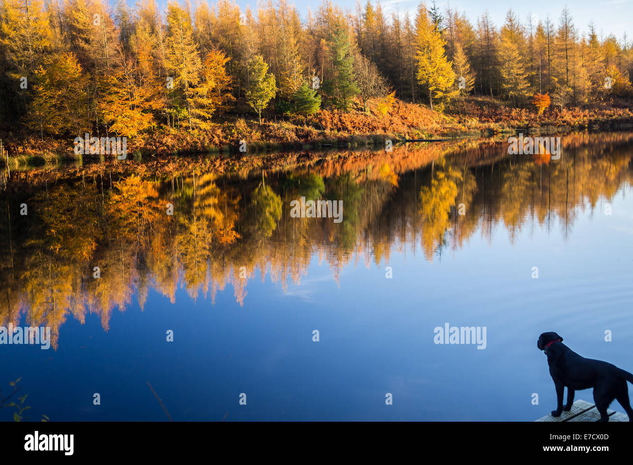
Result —
<path fill-rule="evenodd" d="M 600 412 L 600 421 L 609 421 L 606 409 L 613 400 L 633 419 L 633 409 L 629 403 L 629 383 L 633 375 L 615 365 L 601 360 L 586 359 L 563 344 L 563 338 L 554 332 L 542 333 L 536 343 L 548 356 L 549 374 L 554 380 L 558 405 L 552 416 L 560 416 L 563 410 L 572 409 L 573 394 L 576 390 L 594 389 L 594 402 Z M 567 405 L 563 407 L 563 390 L 567 386 Z"/>

